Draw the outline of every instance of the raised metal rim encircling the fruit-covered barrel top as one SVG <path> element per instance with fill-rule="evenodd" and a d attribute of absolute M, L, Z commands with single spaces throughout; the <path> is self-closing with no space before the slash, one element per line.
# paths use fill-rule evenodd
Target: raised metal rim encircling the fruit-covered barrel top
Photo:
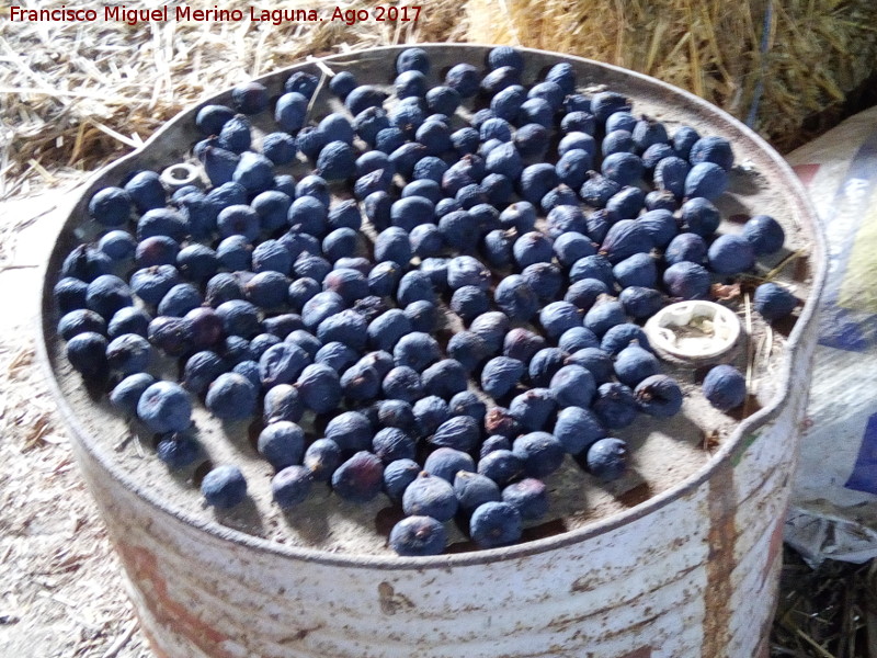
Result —
<path fill-rule="evenodd" d="M 483 44 L 415 44 L 430 50 L 445 49 L 457 50 L 462 54 L 460 61 L 474 61 L 474 56 L 480 55 L 483 58 L 487 52 L 494 47 L 492 45 Z M 378 48 L 369 48 L 367 50 L 357 50 L 353 53 L 345 53 L 343 55 L 332 55 L 324 58 L 311 58 L 284 69 L 280 69 L 261 76 L 257 80 L 274 80 L 285 79 L 289 75 L 299 70 L 312 70 L 315 63 L 344 64 L 353 59 L 374 58 L 376 61 L 386 61 L 392 58 L 395 61 L 395 54 L 400 53 L 407 47 L 403 46 L 384 46 Z M 446 554 L 429 557 L 401 557 L 401 556 L 377 556 L 367 554 L 341 554 L 341 553 L 327 553 L 316 548 L 308 548 L 301 546 L 289 546 L 270 540 L 264 540 L 253 536 L 241 531 L 221 525 L 215 521 L 205 520 L 204 518 L 196 517 L 184 510 L 176 509 L 174 506 L 168 504 L 167 501 L 152 495 L 140 483 L 132 479 L 125 474 L 113 461 L 112 455 L 106 454 L 100 450 L 89 433 L 82 428 L 76 412 L 68 405 L 66 397 L 60 390 L 58 382 L 55 378 L 52 358 L 49 356 L 49 344 L 57 340 L 55 326 L 52 322 L 52 315 L 54 313 L 54 297 L 53 288 L 55 285 L 55 277 L 57 276 L 56 266 L 62 258 L 60 241 L 56 240 L 49 260 L 44 265 L 42 272 L 43 291 L 41 314 L 38 317 L 38 331 L 39 336 L 36 341 L 37 359 L 43 367 L 44 373 L 47 375 L 48 386 L 52 390 L 58 409 L 64 417 L 68 429 L 75 435 L 76 441 L 86 450 L 89 455 L 94 458 L 104 468 L 107 474 L 123 484 L 128 490 L 138 496 L 141 500 L 148 502 L 157 511 L 168 514 L 175 520 L 191 525 L 200 531 L 209 533 L 220 540 L 232 542 L 235 544 L 244 545 L 248 548 L 274 554 L 286 558 L 292 558 L 300 561 L 315 561 L 326 565 L 337 565 L 344 567 L 360 567 L 384 570 L 405 570 L 405 569 L 429 569 L 429 568 L 448 568 L 453 566 L 469 566 L 485 563 L 497 563 L 510 559 L 519 559 L 529 555 L 546 553 L 553 548 L 569 546 L 584 542 L 591 537 L 595 537 L 607 533 L 616 527 L 625 525 L 631 521 L 646 517 L 656 510 L 672 503 L 674 500 L 685 496 L 706 483 L 710 477 L 721 468 L 731 467 L 734 457 L 739 456 L 745 451 L 749 442 L 748 439 L 752 436 L 760 427 L 774 419 L 782 411 L 784 404 L 791 394 L 791 367 L 798 353 L 802 333 L 810 329 L 810 325 L 815 321 L 815 316 L 818 307 L 818 300 L 822 292 L 825 279 L 827 263 L 825 254 L 825 239 L 822 228 L 817 222 L 816 212 L 813 211 L 804 185 L 798 180 L 797 175 L 793 172 L 789 164 L 771 147 L 764 139 L 756 133 L 747 127 L 737 118 L 727 114 L 722 110 L 708 103 L 707 101 L 694 95 L 693 93 L 651 78 L 643 73 L 630 71 L 617 66 L 576 57 L 573 55 L 565 55 L 561 53 L 553 53 L 537 48 L 519 48 L 522 53 L 533 53 L 543 57 L 551 57 L 558 60 L 574 61 L 581 66 L 590 67 L 594 71 L 600 71 L 604 78 L 626 79 L 635 82 L 638 86 L 650 89 L 654 95 L 672 98 L 680 103 L 684 103 L 688 111 L 696 111 L 703 117 L 708 117 L 715 124 L 715 127 L 721 132 L 727 133 L 728 129 L 740 133 L 741 136 L 749 141 L 749 145 L 761 151 L 763 156 L 770 160 L 772 173 L 782 180 L 783 184 L 791 192 L 788 200 L 789 205 L 793 206 L 791 214 L 804 220 L 807 229 L 812 234 L 812 247 L 810 252 L 810 260 L 815 264 L 812 270 L 812 282 L 810 283 L 810 295 L 805 302 L 804 308 L 795 324 L 788 340 L 785 344 L 784 353 L 782 356 L 782 364 L 777 373 L 777 394 L 759 411 L 752 416 L 743 419 L 731 435 L 728 438 L 725 445 L 722 445 L 711 458 L 696 473 L 672 486 L 668 490 L 649 498 L 648 500 L 608 517 L 584 525 L 583 527 L 567 531 L 557 535 L 545 538 L 533 540 L 522 544 L 512 546 L 504 546 L 500 548 L 479 549 L 467 553 Z M 144 154 L 148 154 L 150 147 L 160 140 L 167 132 L 176 127 L 183 122 L 191 122 L 194 118 L 197 109 L 210 102 L 217 102 L 221 97 L 228 94 L 229 90 L 225 90 L 209 99 L 204 99 L 195 105 L 187 107 L 180 112 L 176 116 L 164 124 L 157 131 L 144 145 L 137 150 L 128 154 L 127 156 L 107 164 L 102 168 L 86 183 L 81 194 L 78 195 L 73 207 L 70 208 L 68 217 L 65 219 L 60 229 L 62 232 L 65 228 L 76 224 L 76 208 L 83 207 L 84 200 L 89 198 L 93 192 L 106 184 L 104 179 L 111 177 L 125 166 L 141 159 Z M 60 234 L 59 234 L 60 235 Z"/>

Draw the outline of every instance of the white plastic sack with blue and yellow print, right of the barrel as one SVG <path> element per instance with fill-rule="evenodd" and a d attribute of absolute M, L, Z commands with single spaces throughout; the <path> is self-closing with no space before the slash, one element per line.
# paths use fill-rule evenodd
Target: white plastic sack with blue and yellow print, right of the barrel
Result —
<path fill-rule="evenodd" d="M 785 538 L 816 564 L 877 557 L 877 107 L 788 156 L 828 238 L 808 427 Z"/>

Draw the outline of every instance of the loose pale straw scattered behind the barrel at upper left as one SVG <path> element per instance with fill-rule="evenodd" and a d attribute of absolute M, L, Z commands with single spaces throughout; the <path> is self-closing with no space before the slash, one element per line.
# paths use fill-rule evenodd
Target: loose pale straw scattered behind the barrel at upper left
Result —
<path fill-rule="evenodd" d="M 69 4 L 24 0 L 30 9 Z M 144 0 L 137 8 L 158 8 Z M 367 9 L 374 2 L 284 2 L 283 9 Z M 135 7 L 129 3 L 129 7 Z M 230 0 L 221 9 L 277 9 L 271 0 Z M 0 198 L 30 186 L 81 178 L 137 147 L 200 99 L 329 55 L 409 42 L 457 41 L 459 4 L 423 7 L 418 22 L 10 23 L 0 21 Z"/>

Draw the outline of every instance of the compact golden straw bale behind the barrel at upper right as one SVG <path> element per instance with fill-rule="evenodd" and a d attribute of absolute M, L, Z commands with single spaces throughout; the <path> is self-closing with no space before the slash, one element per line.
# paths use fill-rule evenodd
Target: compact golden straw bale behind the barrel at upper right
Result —
<path fill-rule="evenodd" d="M 778 149 L 877 73 L 874 0 L 470 0 L 471 42 L 570 53 L 654 76 Z"/>

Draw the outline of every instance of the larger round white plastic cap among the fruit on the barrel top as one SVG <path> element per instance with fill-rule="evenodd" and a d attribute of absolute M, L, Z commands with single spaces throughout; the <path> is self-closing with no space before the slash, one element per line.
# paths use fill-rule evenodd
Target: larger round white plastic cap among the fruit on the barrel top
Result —
<path fill-rule="evenodd" d="M 651 345 L 685 361 L 714 359 L 740 337 L 740 318 L 715 302 L 679 302 L 654 314 L 645 327 Z"/>

